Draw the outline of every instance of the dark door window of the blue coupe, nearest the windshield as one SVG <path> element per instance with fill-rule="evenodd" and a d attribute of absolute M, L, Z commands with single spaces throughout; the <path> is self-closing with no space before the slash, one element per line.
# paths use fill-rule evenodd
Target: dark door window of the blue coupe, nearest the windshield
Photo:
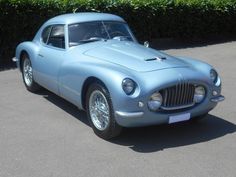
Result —
<path fill-rule="evenodd" d="M 55 25 L 52 27 L 47 44 L 53 47 L 65 48 L 64 25 Z"/>

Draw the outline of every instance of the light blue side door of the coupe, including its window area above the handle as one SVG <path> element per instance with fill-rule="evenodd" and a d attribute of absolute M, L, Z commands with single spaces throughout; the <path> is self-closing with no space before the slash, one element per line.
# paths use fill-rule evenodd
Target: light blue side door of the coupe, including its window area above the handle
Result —
<path fill-rule="evenodd" d="M 51 25 L 42 32 L 37 56 L 37 80 L 40 85 L 59 94 L 58 73 L 65 55 L 65 25 Z"/>

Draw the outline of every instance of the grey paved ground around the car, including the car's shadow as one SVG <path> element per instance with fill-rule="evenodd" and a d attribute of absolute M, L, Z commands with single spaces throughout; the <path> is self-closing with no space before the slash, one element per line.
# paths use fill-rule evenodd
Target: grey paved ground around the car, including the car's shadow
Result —
<path fill-rule="evenodd" d="M 226 101 L 198 124 L 129 129 L 112 142 L 70 103 L 0 72 L 0 177 L 236 176 L 236 42 L 167 53 L 215 66 Z"/>

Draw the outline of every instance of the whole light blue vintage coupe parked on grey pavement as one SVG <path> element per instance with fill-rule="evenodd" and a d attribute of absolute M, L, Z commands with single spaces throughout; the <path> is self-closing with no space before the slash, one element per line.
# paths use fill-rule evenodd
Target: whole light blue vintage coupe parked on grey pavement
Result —
<path fill-rule="evenodd" d="M 104 139 L 122 127 L 199 119 L 224 100 L 212 66 L 140 45 L 112 14 L 54 17 L 13 60 L 29 91 L 42 86 L 86 110 Z"/>

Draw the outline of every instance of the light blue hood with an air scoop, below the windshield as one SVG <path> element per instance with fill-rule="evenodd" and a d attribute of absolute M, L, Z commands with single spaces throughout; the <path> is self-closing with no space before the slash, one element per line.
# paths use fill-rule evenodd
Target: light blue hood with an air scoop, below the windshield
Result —
<path fill-rule="evenodd" d="M 188 67 L 181 59 L 127 41 L 106 42 L 84 52 L 84 55 L 138 71 L 148 72 L 175 67 Z"/>

